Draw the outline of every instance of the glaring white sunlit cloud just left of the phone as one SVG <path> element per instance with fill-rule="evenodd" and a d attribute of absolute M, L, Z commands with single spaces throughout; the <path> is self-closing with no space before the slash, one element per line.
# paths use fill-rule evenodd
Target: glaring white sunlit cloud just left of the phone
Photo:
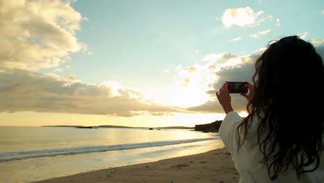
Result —
<path fill-rule="evenodd" d="M 228 53 L 206 55 L 199 64 L 190 67 L 177 66 L 170 94 L 165 103 L 181 107 L 201 105 L 208 101 L 206 91 L 213 89 L 213 83 L 217 78 L 213 71 L 215 62 L 222 62 L 223 58 L 231 58 Z M 233 59 L 224 64 L 231 64 Z M 215 63 L 216 64 L 216 63 Z"/>

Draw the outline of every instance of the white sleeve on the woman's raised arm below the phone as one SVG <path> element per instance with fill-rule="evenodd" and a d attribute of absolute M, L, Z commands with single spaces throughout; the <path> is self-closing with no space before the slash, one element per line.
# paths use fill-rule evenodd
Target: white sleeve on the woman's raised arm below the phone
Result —
<path fill-rule="evenodd" d="M 237 154 L 237 142 L 235 139 L 236 128 L 242 117 L 237 112 L 232 111 L 226 114 L 219 128 L 219 137 L 222 139 L 226 149 L 231 153 L 232 159 L 235 160 Z"/>

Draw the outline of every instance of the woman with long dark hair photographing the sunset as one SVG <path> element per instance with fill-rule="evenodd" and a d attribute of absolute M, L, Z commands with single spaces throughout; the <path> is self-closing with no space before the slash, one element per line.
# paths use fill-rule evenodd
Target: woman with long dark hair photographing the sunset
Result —
<path fill-rule="evenodd" d="M 252 80 L 244 119 L 227 82 L 216 92 L 226 113 L 219 136 L 240 182 L 324 182 L 324 66 L 314 46 L 298 36 L 269 43 Z"/>

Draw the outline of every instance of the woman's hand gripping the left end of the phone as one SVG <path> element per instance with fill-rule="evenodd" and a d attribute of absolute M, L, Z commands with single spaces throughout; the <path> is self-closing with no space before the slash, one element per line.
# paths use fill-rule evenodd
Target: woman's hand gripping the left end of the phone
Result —
<path fill-rule="evenodd" d="M 216 92 L 217 99 L 222 105 L 224 112 L 227 114 L 228 112 L 233 111 L 233 107 L 231 104 L 231 96 L 228 92 L 228 82 L 226 81 L 219 91 Z"/>

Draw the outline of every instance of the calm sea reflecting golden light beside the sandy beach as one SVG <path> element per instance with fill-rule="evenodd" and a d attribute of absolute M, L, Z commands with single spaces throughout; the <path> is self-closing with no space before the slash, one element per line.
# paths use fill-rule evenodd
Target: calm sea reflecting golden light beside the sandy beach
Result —
<path fill-rule="evenodd" d="M 33 182 L 222 147 L 217 134 L 192 130 L 0 127 L 0 182 Z"/>

